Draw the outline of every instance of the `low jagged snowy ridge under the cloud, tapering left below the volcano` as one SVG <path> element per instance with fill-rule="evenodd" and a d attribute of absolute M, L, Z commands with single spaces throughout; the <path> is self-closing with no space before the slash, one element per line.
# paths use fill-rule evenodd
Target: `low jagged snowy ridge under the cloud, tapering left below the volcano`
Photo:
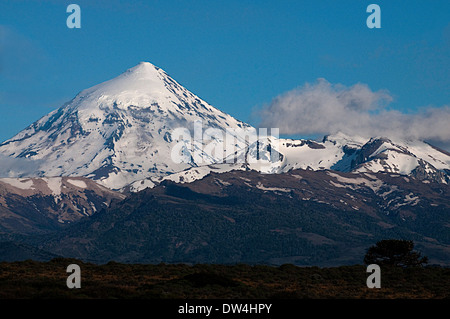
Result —
<path fill-rule="evenodd" d="M 128 190 L 154 187 L 164 180 L 190 183 L 211 173 L 254 170 L 265 174 L 285 173 L 295 169 L 335 170 L 340 172 L 388 172 L 409 175 L 426 182 L 450 182 L 450 155 L 425 142 L 387 138 L 364 139 L 342 133 L 326 136 L 322 142 L 279 139 L 272 136 L 240 150 L 226 161 L 158 178 L 134 182 Z"/>

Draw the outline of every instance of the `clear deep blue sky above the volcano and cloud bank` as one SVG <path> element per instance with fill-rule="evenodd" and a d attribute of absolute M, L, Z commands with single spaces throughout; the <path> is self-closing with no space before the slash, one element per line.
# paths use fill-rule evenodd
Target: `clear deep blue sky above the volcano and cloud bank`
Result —
<path fill-rule="evenodd" d="M 70 3 L 81 29 L 66 26 Z M 381 29 L 366 26 L 371 3 Z M 405 114 L 445 107 L 449 13 L 448 0 L 2 1 L 0 140 L 140 61 L 250 124 L 319 78 L 386 90 Z"/>

